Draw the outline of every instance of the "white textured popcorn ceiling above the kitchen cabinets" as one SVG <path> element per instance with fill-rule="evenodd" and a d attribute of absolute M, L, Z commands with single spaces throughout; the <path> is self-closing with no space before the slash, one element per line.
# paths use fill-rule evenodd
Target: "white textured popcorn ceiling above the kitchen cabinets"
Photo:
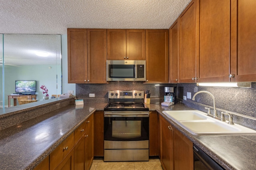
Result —
<path fill-rule="evenodd" d="M 0 0 L 0 33 L 168 29 L 191 0 Z"/>

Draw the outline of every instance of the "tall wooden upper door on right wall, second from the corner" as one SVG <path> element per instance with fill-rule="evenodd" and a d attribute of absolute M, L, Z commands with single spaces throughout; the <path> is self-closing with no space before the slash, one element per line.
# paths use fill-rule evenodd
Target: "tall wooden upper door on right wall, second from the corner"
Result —
<path fill-rule="evenodd" d="M 190 2 L 179 20 L 179 82 L 196 82 L 196 0 Z"/>

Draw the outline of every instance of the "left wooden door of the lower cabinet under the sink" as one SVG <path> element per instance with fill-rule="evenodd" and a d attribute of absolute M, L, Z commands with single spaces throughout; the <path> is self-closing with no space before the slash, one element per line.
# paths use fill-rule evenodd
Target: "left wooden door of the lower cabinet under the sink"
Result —
<path fill-rule="evenodd" d="M 160 161 L 165 170 L 173 170 L 172 130 L 170 123 L 160 116 Z"/>

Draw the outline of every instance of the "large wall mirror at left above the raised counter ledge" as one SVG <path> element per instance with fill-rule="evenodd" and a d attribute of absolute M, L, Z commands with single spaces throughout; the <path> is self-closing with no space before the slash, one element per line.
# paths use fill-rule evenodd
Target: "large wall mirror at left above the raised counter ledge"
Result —
<path fill-rule="evenodd" d="M 52 95 L 62 93 L 61 35 L 1 34 L 0 37 L 0 107 L 15 107 L 13 96 L 17 93 L 30 94 L 19 91 L 16 81 L 36 80 L 37 101 L 46 96 L 41 86 L 48 89 L 49 100 Z"/>

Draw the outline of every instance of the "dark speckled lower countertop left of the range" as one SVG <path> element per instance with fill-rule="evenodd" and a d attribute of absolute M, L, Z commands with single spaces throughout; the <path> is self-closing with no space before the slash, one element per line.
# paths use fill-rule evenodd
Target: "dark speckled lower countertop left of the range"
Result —
<path fill-rule="evenodd" d="M 0 170 L 33 169 L 97 108 L 106 103 L 68 105 L 0 131 Z"/>

